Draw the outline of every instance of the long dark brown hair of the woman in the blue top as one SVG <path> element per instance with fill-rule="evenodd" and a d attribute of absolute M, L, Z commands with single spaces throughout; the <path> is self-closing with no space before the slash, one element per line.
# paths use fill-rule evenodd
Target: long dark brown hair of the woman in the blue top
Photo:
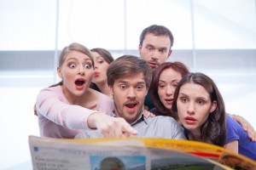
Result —
<path fill-rule="evenodd" d="M 177 84 L 172 103 L 172 111 L 177 111 L 177 97 L 180 88 L 189 82 L 201 85 L 210 95 L 211 101 L 217 102 L 217 107 L 209 114 L 207 121 L 201 125 L 201 142 L 224 146 L 226 137 L 226 114 L 224 100 L 216 84 L 210 77 L 202 73 L 189 73 Z"/>

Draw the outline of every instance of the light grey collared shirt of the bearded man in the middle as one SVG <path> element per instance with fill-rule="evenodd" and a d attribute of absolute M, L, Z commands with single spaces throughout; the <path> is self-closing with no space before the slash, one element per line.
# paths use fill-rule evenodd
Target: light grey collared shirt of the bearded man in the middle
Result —
<path fill-rule="evenodd" d="M 162 139 L 186 139 L 177 121 L 169 116 L 142 116 L 131 124 L 137 130 L 136 137 L 142 138 L 162 138 Z M 102 133 L 97 130 L 84 130 L 75 136 L 75 139 L 102 138 Z"/>

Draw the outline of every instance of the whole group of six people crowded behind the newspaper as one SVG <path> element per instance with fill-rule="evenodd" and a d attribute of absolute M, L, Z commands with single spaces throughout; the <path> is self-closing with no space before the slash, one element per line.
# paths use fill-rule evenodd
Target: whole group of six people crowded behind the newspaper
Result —
<path fill-rule="evenodd" d="M 40 135 L 189 139 L 256 161 L 253 127 L 226 114 L 210 77 L 166 61 L 172 45 L 172 32 L 153 25 L 140 36 L 140 58 L 113 59 L 106 49 L 79 43 L 63 48 L 57 67 L 61 82 L 41 90 L 36 101 Z"/>

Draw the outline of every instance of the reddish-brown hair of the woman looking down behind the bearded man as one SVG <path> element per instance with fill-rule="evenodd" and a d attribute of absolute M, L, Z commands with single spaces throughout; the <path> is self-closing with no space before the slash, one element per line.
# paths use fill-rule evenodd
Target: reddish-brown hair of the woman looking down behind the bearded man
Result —
<path fill-rule="evenodd" d="M 187 66 L 178 61 L 166 62 L 159 65 L 153 72 L 152 82 L 148 90 L 148 95 L 150 100 L 154 104 L 155 108 L 152 110 L 152 112 L 156 116 L 172 116 L 174 119 L 177 119 L 176 113 L 173 113 L 171 110 L 167 109 L 165 105 L 163 105 L 162 102 L 160 101 L 160 97 L 158 95 L 160 74 L 169 68 L 172 68 L 174 71 L 179 72 L 182 77 L 189 73 L 189 69 L 187 68 Z"/>

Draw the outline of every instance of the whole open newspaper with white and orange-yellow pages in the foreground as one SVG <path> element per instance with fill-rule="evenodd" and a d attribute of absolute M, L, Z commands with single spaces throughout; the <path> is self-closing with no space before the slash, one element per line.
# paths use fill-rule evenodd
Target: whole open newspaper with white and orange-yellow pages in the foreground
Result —
<path fill-rule="evenodd" d="M 176 139 L 51 139 L 29 137 L 33 169 L 256 169 L 222 147 Z"/>

